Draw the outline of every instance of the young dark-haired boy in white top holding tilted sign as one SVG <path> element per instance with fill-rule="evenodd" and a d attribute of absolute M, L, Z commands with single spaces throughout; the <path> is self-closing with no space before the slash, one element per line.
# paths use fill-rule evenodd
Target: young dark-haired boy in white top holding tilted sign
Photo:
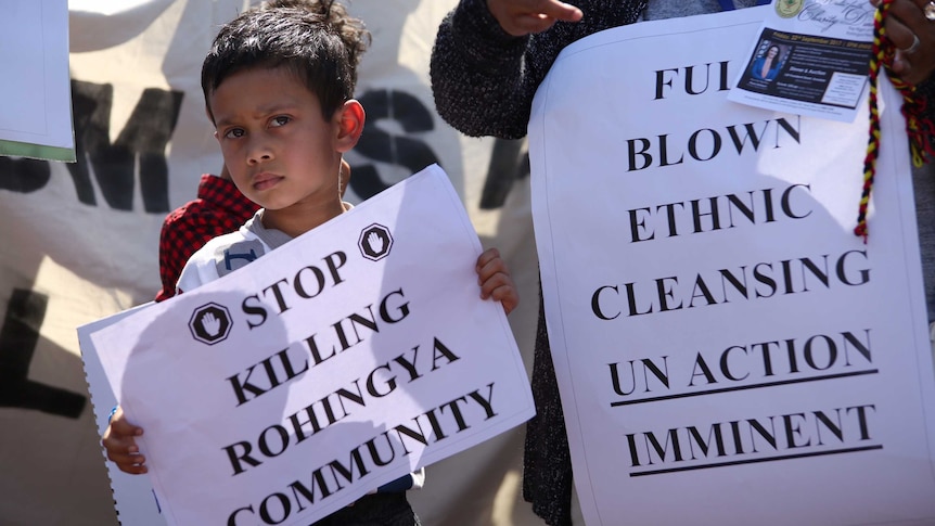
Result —
<path fill-rule="evenodd" d="M 238 232 L 213 240 L 192 257 L 179 292 L 213 281 L 349 207 L 341 201 L 338 172 L 342 154 L 363 130 L 363 107 L 351 95 L 369 34 L 340 4 L 329 2 L 315 12 L 302 5 L 245 12 L 221 28 L 205 59 L 202 88 L 225 165 L 240 191 L 261 208 Z M 221 252 L 232 265 L 215 262 Z M 475 268 L 481 297 L 501 302 L 509 313 L 518 298 L 497 251 L 482 254 Z M 104 433 L 107 458 L 126 473 L 146 472 L 133 439 L 141 434 L 119 410 Z M 404 483 L 366 496 L 317 525 L 418 525 L 406 500 L 408 487 Z"/>

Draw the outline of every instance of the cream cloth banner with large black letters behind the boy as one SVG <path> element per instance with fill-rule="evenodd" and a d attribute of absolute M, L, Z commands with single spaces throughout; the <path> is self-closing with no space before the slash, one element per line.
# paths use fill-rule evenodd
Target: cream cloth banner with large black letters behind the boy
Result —
<path fill-rule="evenodd" d="M 461 137 L 435 114 L 428 56 L 453 0 L 357 0 L 373 34 L 357 98 L 368 116 L 347 201 L 432 163 L 450 176 L 482 244 L 501 249 L 523 302 L 510 315 L 531 367 L 537 267 L 524 145 Z M 248 2 L 69 2 L 77 163 L 0 157 L 0 522 L 117 524 L 75 329 L 159 288 L 165 215 L 221 156 L 200 69 Z M 426 524 L 539 524 L 520 497 L 523 426 L 428 467 L 411 496 Z M 454 518 L 457 517 L 457 518 Z"/>

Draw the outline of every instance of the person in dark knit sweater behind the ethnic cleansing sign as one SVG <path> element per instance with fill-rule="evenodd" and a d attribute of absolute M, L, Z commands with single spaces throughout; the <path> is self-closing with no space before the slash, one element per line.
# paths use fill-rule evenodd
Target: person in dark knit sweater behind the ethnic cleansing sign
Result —
<path fill-rule="evenodd" d="M 763 3 L 769 2 L 580 0 L 572 5 L 559 0 L 460 0 L 441 22 L 432 51 L 430 74 L 436 110 L 466 136 L 521 139 L 526 136 L 536 90 L 567 44 L 641 20 L 714 13 Z M 927 3 L 894 0 L 886 28 L 893 46 L 901 50 L 891 57 L 889 67 L 906 81 L 920 84 L 919 97 L 932 100 L 935 22 L 925 18 L 923 10 Z M 913 46 L 917 37 L 920 43 Z M 933 110 L 933 104 L 928 104 L 930 118 Z M 930 256 L 935 254 L 935 175 L 930 171 L 931 165 L 913 174 L 924 261 L 935 258 Z M 933 322 L 935 265 L 926 265 L 923 270 L 930 322 Z M 531 384 L 536 416 L 526 426 L 523 495 L 546 524 L 568 526 L 572 463 L 541 293 Z"/>

